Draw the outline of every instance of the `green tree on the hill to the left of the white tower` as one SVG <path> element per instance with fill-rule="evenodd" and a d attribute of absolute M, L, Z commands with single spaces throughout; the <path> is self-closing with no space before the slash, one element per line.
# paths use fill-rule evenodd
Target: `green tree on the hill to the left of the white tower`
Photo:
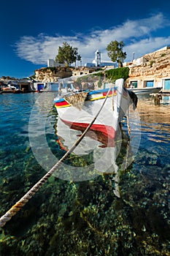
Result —
<path fill-rule="evenodd" d="M 67 42 L 63 42 L 63 46 L 58 47 L 58 55 L 55 57 L 55 61 L 69 67 L 72 63 L 76 65 L 76 61 L 80 60 L 81 56 L 78 54 L 78 48 L 73 48 Z"/>

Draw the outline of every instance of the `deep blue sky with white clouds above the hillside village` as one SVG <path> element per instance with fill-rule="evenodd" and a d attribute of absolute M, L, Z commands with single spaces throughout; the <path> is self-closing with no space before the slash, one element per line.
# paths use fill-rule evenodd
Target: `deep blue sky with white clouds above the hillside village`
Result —
<path fill-rule="evenodd" d="M 26 78 L 55 59 L 58 46 L 77 47 L 82 64 L 107 45 L 125 43 L 125 61 L 170 45 L 170 2 L 167 0 L 8 0 L 1 3 L 0 78 Z M 78 64 L 78 63 L 77 63 Z"/>

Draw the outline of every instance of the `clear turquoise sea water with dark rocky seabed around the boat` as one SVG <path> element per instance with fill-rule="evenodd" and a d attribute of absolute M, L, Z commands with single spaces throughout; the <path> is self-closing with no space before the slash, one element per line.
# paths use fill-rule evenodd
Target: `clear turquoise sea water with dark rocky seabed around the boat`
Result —
<path fill-rule="evenodd" d="M 53 97 L 0 95 L 0 217 L 65 153 Z M 1 256 L 170 255 L 170 105 L 141 97 L 137 110 L 139 148 L 121 169 L 130 148 L 124 135 L 117 156 L 120 197 L 115 174 L 75 182 L 52 176 L 0 229 Z M 90 165 L 90 157 L 72 154 L 61 173 Z"/>

